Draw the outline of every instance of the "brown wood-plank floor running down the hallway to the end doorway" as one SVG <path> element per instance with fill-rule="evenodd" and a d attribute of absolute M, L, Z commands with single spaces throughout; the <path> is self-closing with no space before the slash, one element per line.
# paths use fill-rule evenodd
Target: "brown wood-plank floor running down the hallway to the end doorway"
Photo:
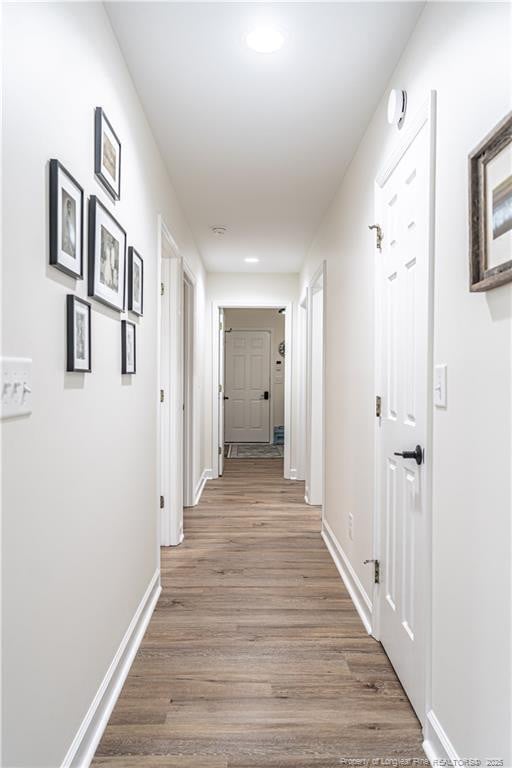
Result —
<path fill-rule="evenodd" d="M 425 759 L 421 731 L 278 459 L 231 459 L 162 552 L 163 592 L 93 766 Z"/>

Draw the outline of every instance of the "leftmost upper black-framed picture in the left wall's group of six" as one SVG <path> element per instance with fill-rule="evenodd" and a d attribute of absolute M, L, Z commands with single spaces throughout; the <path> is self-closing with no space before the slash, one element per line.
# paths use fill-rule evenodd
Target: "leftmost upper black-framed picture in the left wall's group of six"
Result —
<path fill-rule="evenodd" d="M 82 279 L 84 191 L 58 160 L 50 160 L 50 264 Z"/>

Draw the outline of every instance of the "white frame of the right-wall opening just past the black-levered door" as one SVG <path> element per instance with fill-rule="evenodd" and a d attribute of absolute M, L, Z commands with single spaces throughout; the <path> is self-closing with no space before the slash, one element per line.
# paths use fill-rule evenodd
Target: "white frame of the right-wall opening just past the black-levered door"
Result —
<path fill-rule="evenodd" d="M 319 288 L 320 282 L 322 287 Z M 319 290 L 322 291 L 322 526 L 325 517 L 325 329 L 326 329 L 326 288 L 327 288 L 327 262 L 324 259 L 316 271 L 313 273 L 308 283 L 305 301 L 306 309 L 306 448 L 304 463 L 305 496 L 304 501 L 310 504 L 308 494 L 308 484 L 311 478 L 311 412 L 312 412 L 312 349 L 313 349 L 313 295 Z"/>

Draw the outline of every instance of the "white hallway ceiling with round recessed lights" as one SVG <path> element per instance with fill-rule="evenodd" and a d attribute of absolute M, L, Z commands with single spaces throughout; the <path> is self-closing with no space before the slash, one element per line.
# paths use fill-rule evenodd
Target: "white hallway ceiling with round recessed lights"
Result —
<path fill-rule="evenodd" d="M 206 268 L 298 271 L 422 4 L 107 7 Z"/>

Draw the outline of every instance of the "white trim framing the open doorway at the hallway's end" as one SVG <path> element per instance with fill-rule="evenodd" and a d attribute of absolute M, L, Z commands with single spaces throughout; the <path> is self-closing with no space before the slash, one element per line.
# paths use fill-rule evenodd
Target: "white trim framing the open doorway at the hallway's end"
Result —
<path fill-rule="evenodd" d="M 292 439 L 292 367 L 293 367 L 293 303 L 285 302 L 282 304 L 276 302 L 217 302 L 212 301 L 212 434 L 211 434 L 211 452 L 212 452 L 212 478 L 219 477 L 219 343 L 217 328 L 220 325 L 221 309 L 280 309 L 285 307 L 284 316 L 284 339 L 286 347 L 286 363 L 284 367 L 284 477 L 290 478 L 291 466 L 291 439 Z M 215 339 L 217 341 L 215 342 Z M 271 373 L 272 375 L 272 373 Z"/>

